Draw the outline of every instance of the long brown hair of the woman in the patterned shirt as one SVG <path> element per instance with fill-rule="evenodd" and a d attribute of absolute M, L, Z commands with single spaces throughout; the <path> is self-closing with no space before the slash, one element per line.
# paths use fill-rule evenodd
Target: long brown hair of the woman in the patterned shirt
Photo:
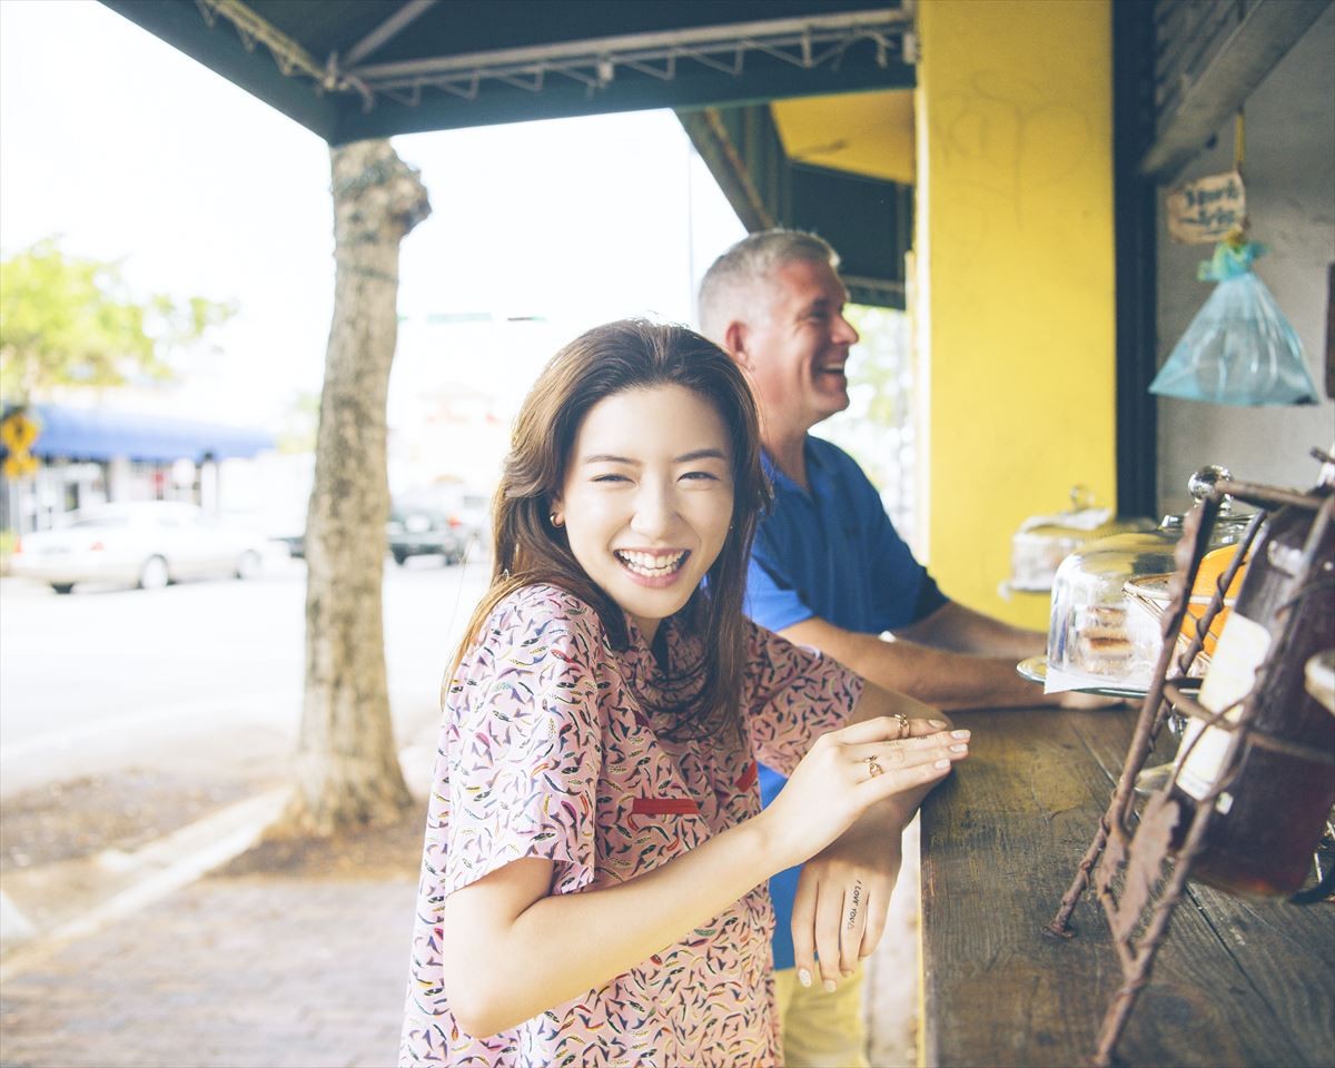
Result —
<path fill-rule="evenodd" d="M 594 327 L 557 352 L 538 375 L 515 421 L 493 501 L 491 585 L 473 613 L 447 684 L 495 606 L 534 583 L 559 586 L 585 601 L 598 613 L 613 647 L 629 645 L 625 613 L 589 578 L 570 551 L 565 530 L 553 527 L 547 517 L 565 486 L 575 435 L 593 406 L 626 390 L 655 386 L 684 386 L 712 405 L 728 427 L 733 522 L 709 569 L 708 587 L 696 590 L 677 614 L 702 638 L 704 653 L 668 680 L 666 704 L 654 710 L 674 714 L 673 734 L 740 733 L 746 562 L 770 490 L 760 463 L 758 415 L 746 379 L 726 352 L 682 326 L 623 319 Z"/>

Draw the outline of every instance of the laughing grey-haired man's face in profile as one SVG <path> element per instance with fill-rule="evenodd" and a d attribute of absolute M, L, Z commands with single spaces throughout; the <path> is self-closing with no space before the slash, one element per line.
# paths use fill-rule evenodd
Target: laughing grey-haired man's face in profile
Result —
<path fill-rule="evenodd" d="M 766 438 L 805 434 L 848 407 L 848 350 L 857 331 L 844 318 L 848 291 L 826 263 L 793 260 L 769 278 L 741 342 Z"/>

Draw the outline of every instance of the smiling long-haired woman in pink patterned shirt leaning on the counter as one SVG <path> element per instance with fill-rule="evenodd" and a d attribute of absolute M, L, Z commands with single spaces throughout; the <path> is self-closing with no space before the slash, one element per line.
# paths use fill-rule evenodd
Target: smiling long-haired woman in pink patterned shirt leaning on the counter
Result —
<path fill-rule="evenodd" d="M 825 985 L 872 952 L 882 834 L 968 744 L 744 618 L 766 499 L 700 335 L 610 323 L 539 375 L 443 694 L 402 1064 L 780 1063 L 766 880 L 817 852 L 852 909 L 805 916 Z M 764 813 L 757 757 L 790 774 Z"/>

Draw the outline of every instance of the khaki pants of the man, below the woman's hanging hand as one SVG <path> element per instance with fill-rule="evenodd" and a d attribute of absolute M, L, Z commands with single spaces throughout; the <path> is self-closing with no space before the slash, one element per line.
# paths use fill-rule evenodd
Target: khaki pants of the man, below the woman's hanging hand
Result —
<path fill-rule="evenodd" d="M 774 993 L 786 1068 L 868 1068 L 861 963 L 834 993 L 825 993 L 820 976 L 804 987 L 796 968 L 781 968 L 774 972 Z"/>

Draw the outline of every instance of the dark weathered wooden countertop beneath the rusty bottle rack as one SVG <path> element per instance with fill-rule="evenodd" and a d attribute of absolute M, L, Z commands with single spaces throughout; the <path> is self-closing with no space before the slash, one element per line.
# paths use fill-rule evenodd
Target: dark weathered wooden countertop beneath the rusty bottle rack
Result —
<path fill-rule="evenodd" d="M 1121 969 L 1087 892 L 1044 934 L 1121 770 L 1133 710 L 953 717 L 968 761 L 922 809 L 922 1053 L 934 1065 L 1088 1063 Z M 1188 884 L 1117 1057 L 1335 1064 L 1335 905 Z"/>

